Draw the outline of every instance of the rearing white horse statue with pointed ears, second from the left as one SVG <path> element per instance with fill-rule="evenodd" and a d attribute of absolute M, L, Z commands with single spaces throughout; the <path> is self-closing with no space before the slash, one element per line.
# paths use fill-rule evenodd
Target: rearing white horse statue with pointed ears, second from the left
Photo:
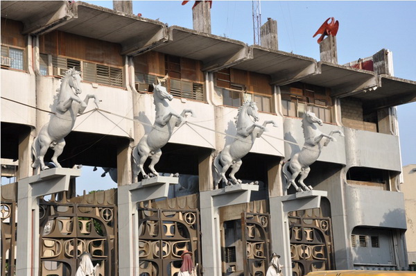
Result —
<path fill-rule="evenodd" d="M 171 139 L 173 129 L 180 126 L 180 123 L 184 121 L 185 114 L 193 114 L 192 110 L 186 109 L 183 110 L 181 114 L 178 114 L 169 105 L 169 101 L 172 101 L 173 96 L 166 91 L 166 87 L 162 86 L 162 83 L 167 77 L 168 76 L 165 76 L 162 79 L 157 78 L 157 85 L 153 84 L 156 118 L 152 130 L 150 130 L 149 133 L 146 133 L 146 135 L 140 139 L 139 144 L 132 150 L 134 162 L 133 175 L 135 177 L 137 177 L 139 173 L 141 173 L 144 178 L 157 175 L 155 164 L 159 162 L 159 159 L 162 156 L 162 150 L 160 149 L 168 143 L 169 139 Z M 152 159 L 149 165 L 151 171 L 149 175 L 143 168 L 144 162 L 146 162 L 148 157 Z"/>

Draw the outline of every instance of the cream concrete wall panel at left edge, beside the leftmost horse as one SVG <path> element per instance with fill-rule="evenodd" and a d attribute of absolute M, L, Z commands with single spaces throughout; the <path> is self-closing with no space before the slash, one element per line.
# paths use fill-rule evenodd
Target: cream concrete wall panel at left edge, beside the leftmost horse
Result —
<path fill-rule="evenodd" d="M 35 108 L 19 104 L 24 103 L 36 107 L 35 76 L 24 72 L 1 69 L 1 96 L 18 102 L 13 103 L 1 99 L 2 122 L 36 126 Z"/>

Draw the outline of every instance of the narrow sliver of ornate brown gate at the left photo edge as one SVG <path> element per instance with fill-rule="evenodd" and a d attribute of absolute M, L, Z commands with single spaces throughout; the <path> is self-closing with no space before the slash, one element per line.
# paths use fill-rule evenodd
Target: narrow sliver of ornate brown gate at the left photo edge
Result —
<path fill-rule="evenodd" d="M 17 183 L 1 186 L 1 276 L 15 275 Z"/>

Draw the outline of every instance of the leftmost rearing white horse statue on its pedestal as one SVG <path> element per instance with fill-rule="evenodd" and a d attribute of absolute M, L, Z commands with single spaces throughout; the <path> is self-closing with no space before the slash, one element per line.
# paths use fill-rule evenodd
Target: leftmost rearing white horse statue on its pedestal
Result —
<path fill-rule="evenodd" d="M 52 162 L 55 166 L 61 168 L 62 166 L 58 162 L 58 157 L 64 150 L 64 137 L 69 135 L 69 132 L 71 132 L 75 125 L 77 114 L 82 114 L 85 111 L 90 98 L 94 98 L 95 103 L 100 102 L 94 94 L 88 94 L 84 101 L 80 99 L 78 96 L 82 93 L 80 73 L 75 68 L 71 68 L 65 73 L 64 78 L 62 78 L 55 114 L 51 116 L 49 123 L 46 123 L 42 127 L 39 135 L 33 141 L 33 169 L 36 169 L 39 165 L 42 170 L 49 169 L 44 164 L 44 156 L 48 148 L 54 150 Z"/>

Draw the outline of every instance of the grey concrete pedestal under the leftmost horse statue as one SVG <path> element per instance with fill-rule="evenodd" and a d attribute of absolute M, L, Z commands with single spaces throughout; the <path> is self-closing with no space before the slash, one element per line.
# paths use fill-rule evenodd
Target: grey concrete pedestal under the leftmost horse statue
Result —
<path fill-rule="evenodd" d="M 17 187 L 17 275 L 39 275 L 40 196 L 68 191 L 69 180 L 81 175 L 80 169 L 55 168 L 19 180 Z"/>

